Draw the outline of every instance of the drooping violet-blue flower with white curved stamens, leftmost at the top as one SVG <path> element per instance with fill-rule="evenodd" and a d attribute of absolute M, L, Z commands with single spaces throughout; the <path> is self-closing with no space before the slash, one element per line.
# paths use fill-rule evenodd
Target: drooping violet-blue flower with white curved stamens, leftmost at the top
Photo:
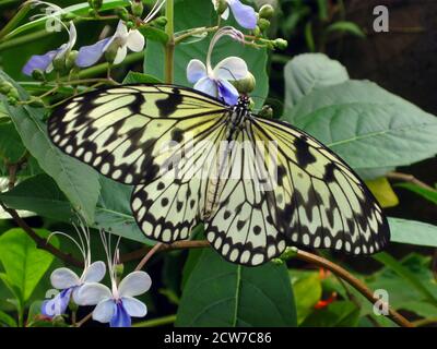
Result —
<path fill-rule="evenodd" d="M 73 22 L 70 22 L 70 29 L 69 32 L 69 40 L 66 44 L 62 44 L 56 50 L 48 51 L 45 55 L 34 55 L 27 61 L 27 63 L 23 68 L 23 73 L 32 76 L 34 70 L 42 70 L 49 73 L 54 69 L 54 60 L 67 59 L 68 55 L 71 52 L 75 40 L 76 40 L 76 31 Z"/>

